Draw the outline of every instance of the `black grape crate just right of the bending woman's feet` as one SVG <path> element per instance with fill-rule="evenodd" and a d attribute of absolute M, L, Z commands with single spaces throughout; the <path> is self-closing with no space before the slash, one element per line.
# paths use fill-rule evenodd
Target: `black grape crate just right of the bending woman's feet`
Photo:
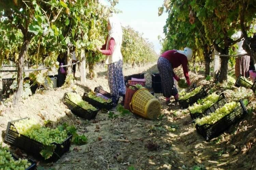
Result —
<path fill-rule="evenodd" d="M 208 94 L 204 90 L 204 87 L 202 87 L 200 89 L 200 91 L 198 92 L 198 94 L 191 96 L 190 98 L 188 98 L 186 100 L 179 100 L 179 104 L 180 104 L 181 108 L 187 108 L 189 105 L 196 103 L 198 99 L 202 99 L 202 98 L 206 97 L 207 95 Z"/>

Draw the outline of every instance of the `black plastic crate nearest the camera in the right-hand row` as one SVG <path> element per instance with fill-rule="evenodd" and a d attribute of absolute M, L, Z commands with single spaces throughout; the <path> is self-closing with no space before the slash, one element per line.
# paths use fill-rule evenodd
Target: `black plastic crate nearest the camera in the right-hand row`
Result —
<path fill-rule="evenodd" d="M 231 113 L 224 116 L 214 124 L 203 124 L 201 126 L 196 124 L 197 132 L 201 134 L 207 141 L 219 136 L 222 132 L 229 128 L 230 125 L 238 122 L 248 113 L 243 101 L 239 100 L 239 103 L 240 106 L 236 107 Z"/>

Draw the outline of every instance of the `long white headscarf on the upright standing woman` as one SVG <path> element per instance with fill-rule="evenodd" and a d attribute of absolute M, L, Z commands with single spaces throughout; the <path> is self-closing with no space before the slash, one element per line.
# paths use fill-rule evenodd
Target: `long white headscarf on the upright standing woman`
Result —
<path fill-rule="evenodd" d="M 116 16 L 109 17 L 109 23 L 111 30 L 109 30 L 109 37 L 106 43 L 106 49 L 109 48 L 110 38 L 114 38 L 116 45 L 122 45 L 123 32 L 119 19 Z"/>

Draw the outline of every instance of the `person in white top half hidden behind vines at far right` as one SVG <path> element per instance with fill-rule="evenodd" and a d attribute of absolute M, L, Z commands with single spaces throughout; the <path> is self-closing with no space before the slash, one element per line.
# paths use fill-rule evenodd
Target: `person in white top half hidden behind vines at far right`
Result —
<path fill-rule="evenodd" d="M 242 32 L 238 31 L 237 33 L 233 34 L 231 38 L 233 40 L 237 40 L 242 36 Z M 236 43 L 237 47 L 235 47 L 234 52 L 236 55 L 246 54 L 246 51 L 243 49 L 243 40 Z M 236 78 L 239 77 L 240 74 L 244 77 L 249 77 L 249 67 L 250 67 L 250 56 L 244 55 L 242 57 L 236 57 L 236 64 L 235 64 L 235 76 Z"/>

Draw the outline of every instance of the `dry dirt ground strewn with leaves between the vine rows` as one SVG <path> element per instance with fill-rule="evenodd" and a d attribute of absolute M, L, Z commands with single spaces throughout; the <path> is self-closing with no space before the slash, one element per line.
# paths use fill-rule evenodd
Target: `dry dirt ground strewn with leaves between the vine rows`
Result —
<path fill-rule="evenodd" d="M 88 79 L 83 84 L 77 78 L 72 85 L 77 86 L 76 91 L 81 96 L 99 85 L 109 91 L 106 68 L 99 65 L 95 72 L 97 78 Z M 124 66 L 124 75 L 141 72 L 144 73 L 146 87 L 151 88 L 151 74 L 158 72 L 156 63 L 136 68 Z M 184 76 L 181 68 L 175 72 L 179 77 Z M 162 105 L 161 116 L 156 120 L 147 120 L 132 113 L 121 115 L 113 108 L 111 111 L 118 115 L 117 118 L 109 118 L 108 113 L 99 111 L 95 119 L 88 121 L 73 115 L 61 102 L 63 94 L 72 91 L 72 87 L 56 88 L 32 95 L 15 107 L 11 105 L 11 99 L 2 101 L 0 142 L 3 141 L 8 121 L 30 117 L 41 122 L 51 120 L 53 126 L 67 122 L 75 125 L 79 134 L 88 138 L 85 145 L 72 144 L 69 152 L 56 163 L 36 160 L 41 169 L 256 169 L 256 114 L 252 90 L 214 84 L 204 80 L 203 75 L 193 72 L 189 72 L 189 75 L 191 82 L 197 85 L 224 92 L 228 101 L 237 101 L 241 96 L 248 99 L 251 112 L 222 135 L 207 142 L 197 133 L 189 111 L 181 109 L 173 98 L 172 103 L 166 105 L 162 94 L 155 94 Z M 10 74 L 3 76 L 8 77 Z M 76 77 L 79 76 L 77 71 Z M 29 154 L 28 157 L 33 158 Z"/>

